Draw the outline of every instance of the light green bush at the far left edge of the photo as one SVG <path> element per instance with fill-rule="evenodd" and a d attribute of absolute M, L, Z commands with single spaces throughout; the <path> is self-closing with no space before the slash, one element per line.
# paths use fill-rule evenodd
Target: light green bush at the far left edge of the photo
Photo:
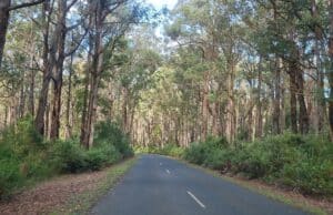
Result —
<path fill-rule="evenodd" d="M 0 197 L 53 174 L 48 163 L 48 147 L 34 130 L 32 119 L 26 117 L 1 133 Z"/>

